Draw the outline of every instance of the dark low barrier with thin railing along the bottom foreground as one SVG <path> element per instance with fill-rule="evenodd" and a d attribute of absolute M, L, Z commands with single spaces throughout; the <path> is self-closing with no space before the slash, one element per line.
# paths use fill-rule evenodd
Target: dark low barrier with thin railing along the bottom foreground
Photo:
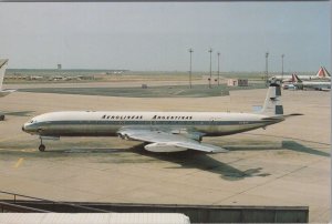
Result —
<path fill-rule="evenodd" d="M 55 202 L 0 191 L 2 212 L 55 213 L 180 213 L 193 223 L 308 223 L 308 206 L 178 205 L 137 203 Z M 1 197 L 0 197 L 1 198 Z M 25 200 L 21 200 L 25 198 Z"/>

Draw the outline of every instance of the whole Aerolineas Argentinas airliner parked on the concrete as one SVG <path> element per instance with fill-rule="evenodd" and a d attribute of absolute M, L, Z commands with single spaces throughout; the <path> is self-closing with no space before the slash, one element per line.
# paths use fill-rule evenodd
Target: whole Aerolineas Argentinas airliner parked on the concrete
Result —
<path fill-rule="evenodd" d="M 40 136 L 40 151 L 45 150 L 44 139 L 118 135 L 125 140 L 145 142 L 145 150 L 152 152 L 227 152 L 203 143 L 203 138 L 266 128 L 284 118 L 301 115 L 283 115 L 280 96 L 280 85 L 272 83 L 258 113 L 65 111 L 35 116 L 22 130 Z"/>

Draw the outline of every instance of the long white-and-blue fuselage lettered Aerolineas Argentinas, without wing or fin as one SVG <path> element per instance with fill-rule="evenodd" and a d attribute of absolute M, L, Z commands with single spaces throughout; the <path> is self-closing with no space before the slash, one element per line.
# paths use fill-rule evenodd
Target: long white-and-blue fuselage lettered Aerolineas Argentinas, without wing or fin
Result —
<path fill-rule="evenodd" d="M 220 112 L 68 111 L 35 116 L 23 131 L 44 136 L 114 136 L 121 129 L 167 131 L 204 136 L 235 134 L 282 121 L 263 114 Z"/>

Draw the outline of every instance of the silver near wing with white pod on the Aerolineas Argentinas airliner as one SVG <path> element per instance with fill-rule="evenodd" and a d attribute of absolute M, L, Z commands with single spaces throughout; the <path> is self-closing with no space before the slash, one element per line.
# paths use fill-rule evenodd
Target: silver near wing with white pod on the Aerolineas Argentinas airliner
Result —
<path fill-rule="evenodd" d="M 124 139 L 148 142 L 145 149 L 152 152 L 177 152 L 196 150 L 203 152 L 228 152 L 222 147 L 200 143 L 180 134 L 172 134 L 165 131 L 123 129 L 117 132 Z"/>

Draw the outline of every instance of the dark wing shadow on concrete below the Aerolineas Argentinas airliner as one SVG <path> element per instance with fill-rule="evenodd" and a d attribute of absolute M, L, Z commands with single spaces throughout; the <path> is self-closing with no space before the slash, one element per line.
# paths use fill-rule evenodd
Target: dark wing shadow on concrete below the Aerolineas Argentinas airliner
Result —
<path fill-rule="evenodd" d="M 131 149 L 131 152 L 180 165 L 180 167 L 170 169 L 199 169 L 201 171 L 220 174 L 221 179 L 228 181 L 239 181 L 246 177 L 270 175 L 269 173 L 260 173 L 262 170 L 261 167 L 240 171 L 227 163 L 215 160 L 204 152 L 184 151 L 173 153 L 154 153 L 144 150 L 143 146 L 139 145 Z"/>

